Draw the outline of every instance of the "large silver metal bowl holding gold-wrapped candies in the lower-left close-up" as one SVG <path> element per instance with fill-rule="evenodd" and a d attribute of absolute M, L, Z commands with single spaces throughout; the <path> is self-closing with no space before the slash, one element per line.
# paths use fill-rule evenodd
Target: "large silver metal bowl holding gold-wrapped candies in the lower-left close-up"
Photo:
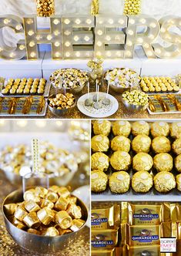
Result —
<path fill-rule="evenodd" d="M 18 203 L 23 200 L 22 190 L 15 190 L 7 197 L 2 204 L 2 213 L 5 221 L 5 227 L 8 233 L 12 236 L 12 239 L 22 248 L 28 251 L 36 251 L 41 254 L 51 254 L 55 251 L 62 251 L 64 248 L 69 247 L 74 243 L 79 235 L 82 233 L 82 228 L 79 231 L 72 232 L 70 234 L 65 234 L 57 237 L 45 237 L 37 234 L 30 234 L 26 231 L 22 231 L 15 227 L 9 220 L 4 211 L 5 204 Z M 78 198 L 78 204 L 82 207 L 83 216 L 82 219 L 87 221 L 88 211 L 85 204 L 82 203 Z"/>

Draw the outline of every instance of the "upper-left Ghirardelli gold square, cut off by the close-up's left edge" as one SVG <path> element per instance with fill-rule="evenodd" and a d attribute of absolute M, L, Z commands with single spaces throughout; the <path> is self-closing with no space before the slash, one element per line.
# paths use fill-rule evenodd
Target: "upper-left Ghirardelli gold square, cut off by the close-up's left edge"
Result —
<path fill-rule="evenodd" d="M 109 208 L 92 209 L 91 228 L 92 230 L 117 229 L 120 224 L 120 206 L 112 205 Z"/>

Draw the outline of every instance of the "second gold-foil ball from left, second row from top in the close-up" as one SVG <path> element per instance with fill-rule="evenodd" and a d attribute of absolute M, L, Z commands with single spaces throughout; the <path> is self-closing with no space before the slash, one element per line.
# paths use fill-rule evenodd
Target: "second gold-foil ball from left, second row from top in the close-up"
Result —
<path fill-rule="evenodd" d="M 131 141 L 126 136 L 116 136 L 111 141 L 111 148 L 113 151 L 126 151 L 129 152 Z"/>

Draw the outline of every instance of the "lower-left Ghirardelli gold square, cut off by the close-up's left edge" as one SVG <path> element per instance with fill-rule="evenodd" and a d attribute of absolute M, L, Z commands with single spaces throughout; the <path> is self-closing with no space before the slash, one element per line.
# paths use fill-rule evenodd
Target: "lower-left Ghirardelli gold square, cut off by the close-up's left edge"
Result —
<path fill-rule="evenodd" d="M 92 249 L 112 249 L 118 243 L 118 231 L 113 229 L 107 230 L 92 230 L 91 232 Z"/>

